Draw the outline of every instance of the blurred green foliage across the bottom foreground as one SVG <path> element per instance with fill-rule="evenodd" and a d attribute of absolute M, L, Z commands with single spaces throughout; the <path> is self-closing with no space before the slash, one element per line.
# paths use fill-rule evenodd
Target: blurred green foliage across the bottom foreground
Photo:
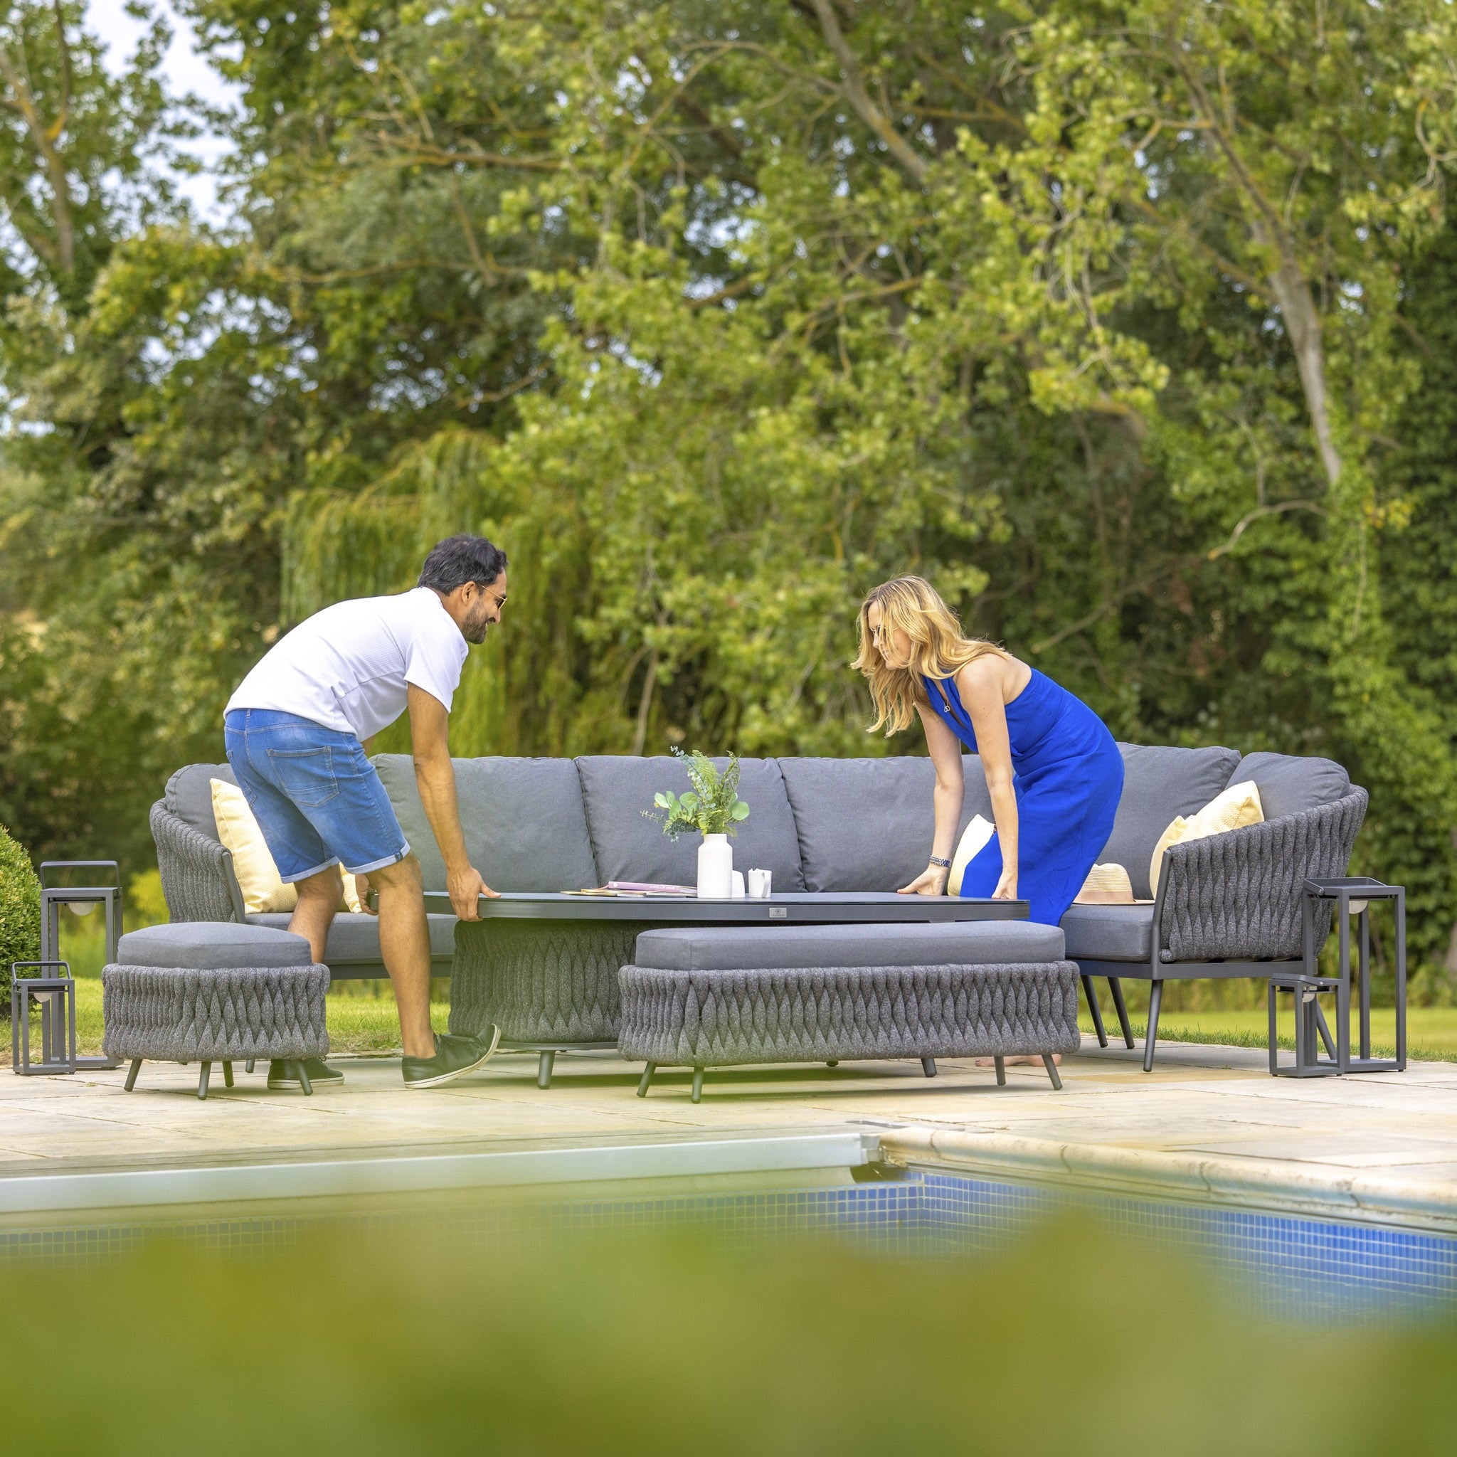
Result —
<path fill-rule="evenodd" d="M 981 1262 L 395 1228 L 0 1271 L 13 1451 L 1450 1453 L 1457 1327 L 1295 1329 L 1078 1224 Z M 19 1396 L 19 1390 L 16 1389 Z"/>

